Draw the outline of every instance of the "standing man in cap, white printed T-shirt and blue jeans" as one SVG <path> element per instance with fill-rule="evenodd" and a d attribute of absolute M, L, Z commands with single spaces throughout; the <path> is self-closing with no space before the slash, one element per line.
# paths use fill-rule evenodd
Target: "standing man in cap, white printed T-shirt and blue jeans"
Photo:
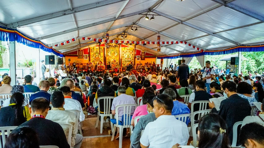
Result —
<path fill-rule="evenodd" d="M 206 80 L 205 82 L 205 86 L 206 86 L 206 92 L 210 94 L 210 83 L 211 83 L 211 78 L 213 78 L 214 75 L 214 69 L 212 69 L 211 66 L 211 62 L 210 61 L 206 61 L 205 65 L 199 72 L 199 74 L 203 75 L 203 81 Z M 201 72 L 203 71 L 203 72 Z"/>

